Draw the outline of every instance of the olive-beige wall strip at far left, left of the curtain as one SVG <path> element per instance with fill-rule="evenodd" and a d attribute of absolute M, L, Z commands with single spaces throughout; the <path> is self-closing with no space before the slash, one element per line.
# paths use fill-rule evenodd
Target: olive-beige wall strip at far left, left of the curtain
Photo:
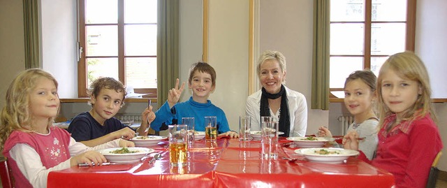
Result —
<path fill-rule="evenodd" d="M 23 4 L 17 0 L 0 1 L 0 107 L 15 75 L 25 69 Z"/>

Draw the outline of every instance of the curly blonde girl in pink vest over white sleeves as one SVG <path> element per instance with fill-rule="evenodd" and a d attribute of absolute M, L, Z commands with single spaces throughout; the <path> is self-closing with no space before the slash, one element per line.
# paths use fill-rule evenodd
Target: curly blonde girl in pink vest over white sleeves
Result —
<path fill-rule="evenodd" d="M 41 69 L 22 71 L 8 87 L 1 110 L 0 149 L 13 171 L 15 187 L 47 187 L 50 171 L 82 163 L 100 165 L 106 159 L 95 150 L 134 146 L 122 139 L 97 147 L 76 143 L 70 133 L 52 126 L 59 105 L 57 81 Z"/>

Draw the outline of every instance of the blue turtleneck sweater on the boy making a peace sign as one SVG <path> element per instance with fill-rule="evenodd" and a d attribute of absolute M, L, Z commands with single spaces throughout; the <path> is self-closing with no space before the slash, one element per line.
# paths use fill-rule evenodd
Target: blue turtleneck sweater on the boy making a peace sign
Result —
<path fill-rule="evenodd" d="M 182 123 L 182 117 L 194 117 L 194 130 L 205 131 L 205 116 L 216 116 L 217 118 L 217 131 L 219 133 L 225 133 L 230 131 L 228 126 L 228 120 L 223 110 L 214 104 L 210 100 L 207 103 L 198 103 L 193 101 L 191 96 L 188 101 L 182 103 L 176 103 L 172 109 L 169 108 L 169 103 L 166 101 L 163 106 L 156 110 L 156 118 L 151 123 L 151 128 L 155 131 L 160 131 L 162 124 L 173 124 L 173 120 L 177 120 L 177 124 Z"/>

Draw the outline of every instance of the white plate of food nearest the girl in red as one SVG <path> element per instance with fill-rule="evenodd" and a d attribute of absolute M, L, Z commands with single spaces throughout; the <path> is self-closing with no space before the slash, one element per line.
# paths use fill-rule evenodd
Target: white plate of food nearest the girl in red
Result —
<path fill-rule="evenodd" d="M 320 150 L 335 152 L 335 154 L 319 154 L 318 151 Z M 330 164 L 339 164 L 351 156 L 357 156 L 358 154 L 360 154 L 356 150 L 345 150 L 343 148 L 334 147 L 302 148 L 295 150 L 295 153 L 304 155 L 309 161 Z"/>

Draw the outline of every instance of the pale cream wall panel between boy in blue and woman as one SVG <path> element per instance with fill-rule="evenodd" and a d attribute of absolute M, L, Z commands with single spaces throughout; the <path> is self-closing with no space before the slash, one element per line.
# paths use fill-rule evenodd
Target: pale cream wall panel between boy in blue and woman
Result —
<path fill-rule="evenodd" d="M 209 1 L 208 62 L 217 72 L 210 100 L 239 129 L 248 96 L 249 1 Z"/>

